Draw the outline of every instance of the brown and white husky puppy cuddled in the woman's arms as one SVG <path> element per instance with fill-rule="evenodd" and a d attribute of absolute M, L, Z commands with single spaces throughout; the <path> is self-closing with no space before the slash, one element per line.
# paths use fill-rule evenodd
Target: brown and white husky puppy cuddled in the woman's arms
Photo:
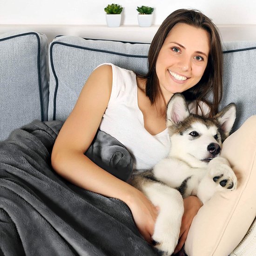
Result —
<path fill-rule="evenodd" d="M 174 94 L 167 107 L 171 142 L 168 157 L 133 176 L 131 184 L 159 207 L 152 239 L 163 255 L 178 243 L 183 199 L 196 195 L 202 203 L 216 191 L 236 189 L 236 175 L 220 157 L 222 142 L 236 119 L 236 105 L 229 104 L 213 118 L 189 113 L 182 94 Z"/>

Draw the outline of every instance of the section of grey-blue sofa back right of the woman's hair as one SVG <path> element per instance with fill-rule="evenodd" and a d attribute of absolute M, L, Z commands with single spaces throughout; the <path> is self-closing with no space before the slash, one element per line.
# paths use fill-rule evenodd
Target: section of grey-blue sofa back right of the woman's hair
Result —
<path fill-rule="evenodd" d="M 234 41 L 223 44 L 223 97 L 220 109 L 236 103 L 238 129 L 251 115 L 256 115 L 256 42 Z"/>

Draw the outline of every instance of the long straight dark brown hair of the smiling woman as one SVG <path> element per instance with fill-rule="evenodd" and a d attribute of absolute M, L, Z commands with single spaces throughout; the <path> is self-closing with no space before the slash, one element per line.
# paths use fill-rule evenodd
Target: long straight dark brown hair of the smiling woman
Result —
<path fill-rule="evenodd" d="M 162 95 L 159 81 L 155 71 L 156 60 L 161 50 L 164 40 L 168 36 L 172 27 L 177 23 L 185 23 L 191 26 L 202 28 L 210 36 L 210 52 L 207 67 L 201 80 L 192 88 L 182 94 L 187 101 L 206 102 L 211 108 L 211 115 L 216 115 L 218 104 L 222 98 L 222 74 L 223 74 L 223 55 L 221 38 L 217 27 L 212 21 L 198 10 L 180 9 L 171 13 L 156 32 L 148 52 L 148 74 L 144 76 L 146 81 L 146 95 L 151 104 L 155 103 L 156 98 Z M 212 103 L 206 100 L 206 96 L 212 92 Z M 196 108 L 197 109 L 197 108 Z"/>

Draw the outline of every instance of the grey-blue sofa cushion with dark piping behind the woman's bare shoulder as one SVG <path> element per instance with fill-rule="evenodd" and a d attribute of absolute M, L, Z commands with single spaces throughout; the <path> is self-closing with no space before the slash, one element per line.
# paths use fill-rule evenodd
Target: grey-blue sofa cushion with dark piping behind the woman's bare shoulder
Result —
<path fill-rule="evenodd" d="M 106 62 L 146 73 L 149 44 L 60 36 L 49 46 L 49 120 L 66 120 L 94 68 Z"/>

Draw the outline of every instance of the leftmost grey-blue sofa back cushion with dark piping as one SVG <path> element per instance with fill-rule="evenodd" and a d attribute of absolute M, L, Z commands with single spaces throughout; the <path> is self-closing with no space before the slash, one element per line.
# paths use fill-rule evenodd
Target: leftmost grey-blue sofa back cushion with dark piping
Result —
<path fill-rule="evenodd" d="M 35 32 L 0 35 L 0 140 L 34 119 L 47 120 L 47 37 Z"/>

